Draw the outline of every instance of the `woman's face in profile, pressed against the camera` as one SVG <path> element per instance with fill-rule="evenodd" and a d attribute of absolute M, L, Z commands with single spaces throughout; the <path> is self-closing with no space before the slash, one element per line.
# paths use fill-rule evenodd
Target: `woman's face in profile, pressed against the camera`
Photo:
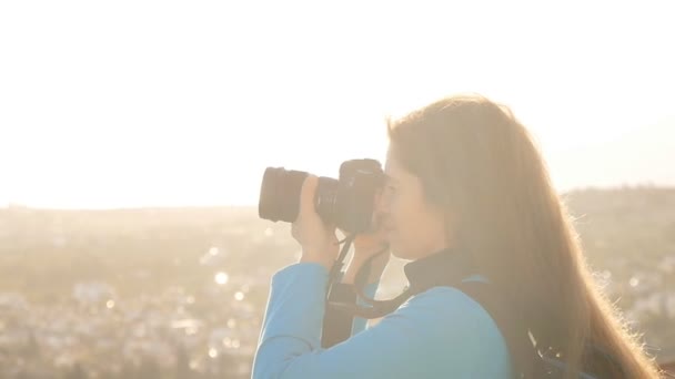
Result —
<path fill-rule="evenodd" d="M 377 211 L 392 254 L 414 260 L 445 248 L 443 213 L 427 202 L 420 180 L 400 165 L 391 147 L 384 173 L 386 182 Z"/>

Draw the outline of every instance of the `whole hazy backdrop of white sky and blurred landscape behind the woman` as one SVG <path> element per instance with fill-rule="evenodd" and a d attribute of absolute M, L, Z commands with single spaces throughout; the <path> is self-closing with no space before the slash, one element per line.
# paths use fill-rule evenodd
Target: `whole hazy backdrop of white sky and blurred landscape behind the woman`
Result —
<path fill-rule="evenodd" d="M 264 168 L 383 160 L 387 115 L 460 92 L 532 131 L 597 283 L 675 362 L 673 8 L 0 2 L 0 377 L 248 378 L 299 257 L 258 218 Z"/>

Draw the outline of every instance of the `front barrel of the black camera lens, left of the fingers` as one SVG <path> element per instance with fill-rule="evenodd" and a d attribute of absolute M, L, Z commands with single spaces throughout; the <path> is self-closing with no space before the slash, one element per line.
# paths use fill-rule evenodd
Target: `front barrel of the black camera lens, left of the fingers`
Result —
<path fill-rule="evenodd" d="M 303 171 L 268 167 L 258 203 L 260 218 L 293 223 L 300 212 L 300 194 L 306 176 Z"/>

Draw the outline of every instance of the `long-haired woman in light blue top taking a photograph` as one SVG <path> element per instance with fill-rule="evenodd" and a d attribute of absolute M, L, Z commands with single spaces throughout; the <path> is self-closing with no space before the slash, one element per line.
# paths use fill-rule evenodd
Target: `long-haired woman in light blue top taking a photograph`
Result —
<path fill-rule="evenodd" d="M 512 378 L 495 319 L 461 286 L 446 285 L 472 280 L 507 299 L 537 348 L 566 362 L 566 378 L 594 366 L 590 347 L 613 362 L 595 365 L 601 378 L 658 378 L 594 285 L 544 161 L 506 107 L 480 96 L 444 99 L 390 123 L 389 136 L 377 212 L 392 254 L 411 260 L 410 287 L 421 290 L 395 299 L 401 306 L 377 325 L 321 347 L 338 246 L 313 209 L 310 176 L 293 224 L 302 258 L 272 278 L 253 378 Z M 372 239 L 356 245 L 346 280 L 376 250 Z"/>

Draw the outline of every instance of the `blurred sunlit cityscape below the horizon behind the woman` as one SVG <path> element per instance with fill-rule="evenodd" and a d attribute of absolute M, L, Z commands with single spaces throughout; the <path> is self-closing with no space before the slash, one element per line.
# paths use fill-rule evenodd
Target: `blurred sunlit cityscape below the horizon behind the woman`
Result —
<path fill-rule="evenodd" d="M 598 284 L 675 360 L 675 188 L 564 198 Z M 249 378 L 270 278 L 299 257 L 256 212 L 0 209 L 0 378 Z"/>

